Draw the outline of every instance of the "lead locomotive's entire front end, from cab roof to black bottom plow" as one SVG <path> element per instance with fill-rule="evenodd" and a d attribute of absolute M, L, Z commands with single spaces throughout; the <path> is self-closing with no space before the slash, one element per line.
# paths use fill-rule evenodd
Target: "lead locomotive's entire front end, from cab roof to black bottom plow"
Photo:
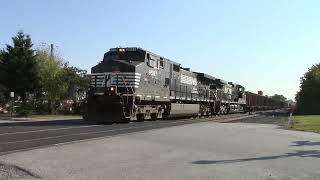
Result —
<path fill-rule="evenodd" d="M 130 115 L 133 94 L 139 88 L 141 74 L 137 66 L 145 63 L 146 52 L 139 48 L 112 48 L 91 69 L 91 86 L 86 119 L 121 122 Z"/>

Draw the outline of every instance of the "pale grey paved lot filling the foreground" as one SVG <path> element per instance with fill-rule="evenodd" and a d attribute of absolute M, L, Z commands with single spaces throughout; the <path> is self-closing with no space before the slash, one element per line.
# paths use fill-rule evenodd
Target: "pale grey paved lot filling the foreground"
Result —
<path fill-rule="evenodd" d="M 320 134 L 270 124 L 277 119 L 189 123 L 11 153 L 0 158 L 0 179 L 318 180 Z M 168 122 L 132 124 L 149 123 Z"/>

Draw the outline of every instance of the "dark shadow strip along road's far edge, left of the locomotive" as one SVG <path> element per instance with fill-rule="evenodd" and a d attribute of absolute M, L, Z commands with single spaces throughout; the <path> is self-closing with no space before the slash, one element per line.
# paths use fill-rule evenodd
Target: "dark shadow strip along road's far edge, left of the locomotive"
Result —
<path fill-rule="evenodd" d="M 50 121 L 30 121 L 30 122 L 7 122 L 0 123 L 0 127 L 6 126 L 79 126 L 94 125 L 94 122 L 83 119 L 50 120 Z"/>

